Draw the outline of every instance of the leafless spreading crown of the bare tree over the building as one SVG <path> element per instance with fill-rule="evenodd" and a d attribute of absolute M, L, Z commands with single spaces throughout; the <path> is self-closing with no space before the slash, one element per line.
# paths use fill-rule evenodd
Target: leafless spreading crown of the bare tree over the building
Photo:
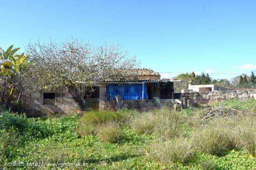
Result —
<path fill-rule="evenodd" d="M 135 57 L 130 57 L 120 45 L 94 46 L 77 39 L 56 43 L 40 40 L 26 47 L 33 60 L 24 86 L 32 90 L 59 87 L 91 87 L 97 83 L 129 81 L 135 78 L 133 69 L 139 67 Z"/>

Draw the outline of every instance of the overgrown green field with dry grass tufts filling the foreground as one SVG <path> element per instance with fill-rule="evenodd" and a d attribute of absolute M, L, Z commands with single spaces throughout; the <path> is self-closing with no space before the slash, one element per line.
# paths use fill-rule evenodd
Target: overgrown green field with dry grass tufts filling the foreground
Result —
<path fill-rule="evenodd" d="M 216 103 L 255 111 L 256 101 Z M 56 118 L 0 114 L 0 167 L 81 170 L 255 170 L 256 117 L 195 119 L 193 109 L 91 111 Z M 6 166 L 6 163 L 48 166 Z M 50 166 L 55 165 L 55 166 Z M 65 166 L 79 163 L 84 166 Z M 21 164 L 22 165 L 22 164 Z"/>

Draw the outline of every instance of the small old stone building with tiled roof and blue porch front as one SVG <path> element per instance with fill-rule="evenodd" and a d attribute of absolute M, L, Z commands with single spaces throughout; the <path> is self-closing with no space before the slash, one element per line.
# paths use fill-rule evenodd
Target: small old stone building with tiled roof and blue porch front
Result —
<path fill-rule="evenodd" d="M 135 69 L 137 75 L 133 82 L 106 80 L 92 90 L 80 91 L 77 88 L 59 88 L 51 91 L 25 91 L 23 111 L 28 116 L 76 113 L 88 108 L 115 109 L 116 96 L 121 96 L 122 105 L 136 108 L 155 105 L 155 98 L 163 101 L 174 99 L 173 81 L 162 80 L 152 69 Z M 148 105 L 147 105 L 148 104 Z"/>

